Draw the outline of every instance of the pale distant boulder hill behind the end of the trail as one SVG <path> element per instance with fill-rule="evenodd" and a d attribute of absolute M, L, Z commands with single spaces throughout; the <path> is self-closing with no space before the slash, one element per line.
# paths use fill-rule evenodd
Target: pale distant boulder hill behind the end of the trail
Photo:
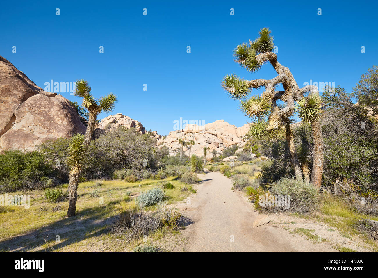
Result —
<path fill-rule="evenodd" d="M 194 145 L 191 147 L 190 154 L 203 156 L 203 149 L 208 148 L 206 159 L 211 160 L 213 157 L 212 151 L 215 150 L 216 155 L 223 153 L 225 148 L 229 146 L 244 145 L 244 136 L 249 130 L 249 124 L 242 127 L 235 127 L 227 123 L 225 120 L 218 120 L 214 123 L 208 123 L 204 126 L 195 124 L 187 124 L 185 129 L 169 132 L 166 138 L 161 138 L 157 141 L 158 148 L 166 146 L 169 149 L 170 155 L 176 155 L 180 152 L 181 144 L 179 139 L 184 141 L 194 140 Z M 185 155 L 189 155 L 189 148 L 183 147 Z"/>

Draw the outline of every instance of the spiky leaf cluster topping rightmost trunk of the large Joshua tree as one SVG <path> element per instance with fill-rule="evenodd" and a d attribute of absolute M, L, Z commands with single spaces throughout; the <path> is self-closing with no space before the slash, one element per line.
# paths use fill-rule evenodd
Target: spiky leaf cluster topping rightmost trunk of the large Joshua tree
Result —
<path fill-rule="evenodd" d="M 322 116 L 322 99 L 318 94 L 311 93 L 300 99 L 295 106 L 295 113 L 305 122 L 319 120 Z"/>

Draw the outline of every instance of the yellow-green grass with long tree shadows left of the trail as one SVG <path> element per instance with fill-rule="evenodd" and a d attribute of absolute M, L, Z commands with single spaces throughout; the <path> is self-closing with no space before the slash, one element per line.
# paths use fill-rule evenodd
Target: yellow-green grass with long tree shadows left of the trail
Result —
<path fill-rule="evenodd" d="M 12 206 L 2 207 L 0 211 L 0 250 L 131 251 L 138 240 L 135 243 L 126 242 L 110 229 L 115 212 L 125 206 L 135 208 L 135 197 L 140 192 L 155 188 L 162 181 L 174 185 L 173 189 L 165 190 L 164 199 L 168 204 L 185 200 L 191 194 L 189 191 L 180 191 L 183 183 L 174 177 L 135 183 L 103 180 L 101 186 L 98 183 L 96 185 L 95 181 L 83 182 L 77 190 L 76 216 L 66 217 L 68 202 L 48 203 L 42 191 L 26 192 L 26 195 L 31 195 L 29 209 Z M 62 189 L 67 190 L 67 185 L 62 186 Z M 93 194 L 94 190 L 96 194 Z M 166 230 L 160 230 L 149 236 L 149 241 L 160 241 L 165 237 Z"/>

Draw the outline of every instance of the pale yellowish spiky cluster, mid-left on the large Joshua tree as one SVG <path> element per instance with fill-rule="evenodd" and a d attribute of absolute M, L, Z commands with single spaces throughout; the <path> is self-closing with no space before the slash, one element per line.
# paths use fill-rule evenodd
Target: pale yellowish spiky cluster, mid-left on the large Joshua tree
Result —
<path fill-rule="evenodd" d="M 240 110 L 245 116 L 256 120 L 266 118 L 271 112 L 271 103 L 266 96 L 252 96 L 250 99 L 240 101 Z"/>

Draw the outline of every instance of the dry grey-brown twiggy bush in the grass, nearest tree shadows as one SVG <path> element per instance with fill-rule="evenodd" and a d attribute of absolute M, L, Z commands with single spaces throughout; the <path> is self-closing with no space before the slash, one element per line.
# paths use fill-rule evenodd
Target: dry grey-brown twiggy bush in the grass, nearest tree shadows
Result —
<path fill-rule="evenodd" d="M 161 218 L 153 213 L 134 208 L 117 213 L 111 230 L 125 235 L 128 239 L 138 239 L 149 233 L 155 233 L 162 227 Z"/>

